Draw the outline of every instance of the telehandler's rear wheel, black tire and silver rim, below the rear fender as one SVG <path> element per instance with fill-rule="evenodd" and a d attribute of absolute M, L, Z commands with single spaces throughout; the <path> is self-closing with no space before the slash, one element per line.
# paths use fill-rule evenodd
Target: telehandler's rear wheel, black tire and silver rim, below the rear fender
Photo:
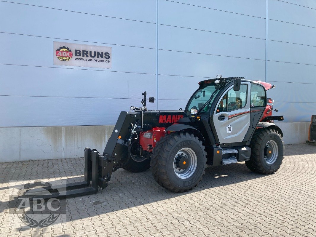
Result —
<path fill-rule="evenodd" d="M 246 166 L 261 174 L 275 173 L 284 158 L 284 144 L 280 133 L 274 129 L 261 128 L 251 139 L 251 157 Z M 270 154 L 269 154 L 270 153 Z"/>

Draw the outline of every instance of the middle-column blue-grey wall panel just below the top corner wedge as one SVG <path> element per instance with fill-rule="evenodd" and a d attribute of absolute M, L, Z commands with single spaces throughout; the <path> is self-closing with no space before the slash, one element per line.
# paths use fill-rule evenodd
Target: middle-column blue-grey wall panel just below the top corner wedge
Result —
<path fill-rule="evenodd" d="M 159 2 L 159 24 L 265 39 L 265 19 L 169 1 Z"/>

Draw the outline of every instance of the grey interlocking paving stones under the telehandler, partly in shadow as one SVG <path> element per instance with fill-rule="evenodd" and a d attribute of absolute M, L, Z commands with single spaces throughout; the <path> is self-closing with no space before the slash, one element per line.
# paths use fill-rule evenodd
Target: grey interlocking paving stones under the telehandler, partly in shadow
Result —
<path fill-rule="evenodd" d="M 316 147 L 286 145 L 281 169 L 209 167 L 192 191 L 167 191 L 150 171 L 113 173 L 105 190 L 67 200 L 68 222 L 21 228 L 9 217 L 9 182 L 82 180 L 83 158 L 0 164 L 0 236 L 316 236 Z M 17 220 L 17 221 L 16 221 Z"/>

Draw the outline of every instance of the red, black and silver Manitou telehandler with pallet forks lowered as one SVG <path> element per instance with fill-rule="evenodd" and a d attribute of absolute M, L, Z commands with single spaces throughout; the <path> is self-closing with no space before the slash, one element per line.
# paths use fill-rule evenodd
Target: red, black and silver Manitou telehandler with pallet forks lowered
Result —
<path fill-rule="evenodd" d="M 198 84 L 185 110 L 147 110 L 146 101 L 155 99 L 147 100 L 144 92 L 143 106 L 120 113 L 102 155 L 85 148 L 85 181 L 55 186 L 64 190 L 55 197 L 104 189 L 119 168 L 135 173 L 150 168 L 157 183 L 174 192 L 197 186 L 207 166 L 246 161 L 254 172 L 276 172 L 284 146 L 273 121 L 284 117 L 272 116 L 273 100 L 266 94 L 275 86 L 221 75 Z"/>

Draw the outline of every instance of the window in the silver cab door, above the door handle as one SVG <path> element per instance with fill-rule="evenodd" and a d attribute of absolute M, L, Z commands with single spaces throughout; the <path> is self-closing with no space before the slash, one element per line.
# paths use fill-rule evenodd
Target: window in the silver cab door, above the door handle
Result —
<path fill-rule="evenodd" d="M 241 85 L 239 91 L 234 91 L 234 89 L 231 88 L 223 95 L 216 113 L 230 112 L 245 107 L 247 103 L 247 88 L 248 86 L 246 84 Z"/>

